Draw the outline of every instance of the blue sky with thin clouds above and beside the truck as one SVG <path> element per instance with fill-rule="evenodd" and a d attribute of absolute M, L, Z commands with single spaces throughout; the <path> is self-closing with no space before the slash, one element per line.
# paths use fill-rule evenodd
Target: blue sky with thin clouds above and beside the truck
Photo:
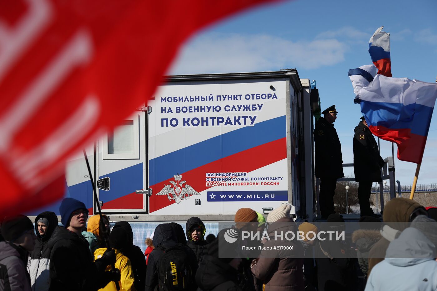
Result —
<path fill-rule="evenodd" d="M 209 27 L 181 49 L 170 74 L 255 72 L 296 68 L 317 81 L 322 109 L 336 104 L 344 163 L 361 117 L 348 69 L 371 64 L 368 41 L 390 33 L 392 74 L 425 82 L 437 76 L 437 1 L 285 1 L 261 6 Z M 435 115 L 435 114 L 434 114 Z M 418 184 L 437 183 L 437 117 L 431 121 Z M 395 145 L 395 155 L 396 155 Z M 381 156 L 392 145 L 381 140 Z M 416 164 L 395 160 L 396 179 L 412 184 Z M 345 174 L 353 175 L 352 168 Z"/>

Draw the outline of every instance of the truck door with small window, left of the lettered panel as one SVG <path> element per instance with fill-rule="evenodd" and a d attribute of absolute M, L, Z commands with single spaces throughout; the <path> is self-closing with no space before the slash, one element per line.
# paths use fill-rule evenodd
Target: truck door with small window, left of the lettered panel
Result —
<path fill-rule="evenodd" d="M 137 108 L 97 143 L 97 177 L 110 178 L 109 191 L 97 192 L 104 213 L 148 213 L 145 111 Z"/>

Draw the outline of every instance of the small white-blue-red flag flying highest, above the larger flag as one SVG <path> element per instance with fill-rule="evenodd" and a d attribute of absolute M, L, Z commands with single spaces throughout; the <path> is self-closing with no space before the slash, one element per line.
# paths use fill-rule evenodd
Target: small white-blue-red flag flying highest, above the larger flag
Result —
<path fill-rule="evenodd" d="M 390 34 L 378 28 L 369 40 L 369 53 L 373 64 L 378 68 L 378 74 L 391 77 L 392 63 L 390 61 Z"/>

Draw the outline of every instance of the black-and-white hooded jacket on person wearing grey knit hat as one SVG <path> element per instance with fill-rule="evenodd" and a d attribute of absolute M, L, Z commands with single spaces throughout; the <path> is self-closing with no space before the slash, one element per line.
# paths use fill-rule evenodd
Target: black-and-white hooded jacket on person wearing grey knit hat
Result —
<path fill-rule="evenodd" d="M 38 232 L 38 219 L 46 218 L 49 221 L 47 232 L 41 236 Z M 32 291 L 47 291 L 50 285 L 50 256 L 52 249 L 48 247 L 52 234 L 58 232 L 58 217 L 55 212 L 45 211 L 35 218 L 37 240 L 35 249 L 30 253 L 28 270 L 31 279 Z"/>

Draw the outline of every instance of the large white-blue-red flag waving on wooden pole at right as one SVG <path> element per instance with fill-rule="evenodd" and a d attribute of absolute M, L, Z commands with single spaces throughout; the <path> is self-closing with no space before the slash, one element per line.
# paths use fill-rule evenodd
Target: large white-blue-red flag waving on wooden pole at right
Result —
<path fill-rule="evenodd" d="M 354 102 L 361 105 L 374 135 L 398 145 L 398 159 L 422 163 L 437 84 L 386 77 L 375 74 L 371 67 L 349 70 Z"/>

